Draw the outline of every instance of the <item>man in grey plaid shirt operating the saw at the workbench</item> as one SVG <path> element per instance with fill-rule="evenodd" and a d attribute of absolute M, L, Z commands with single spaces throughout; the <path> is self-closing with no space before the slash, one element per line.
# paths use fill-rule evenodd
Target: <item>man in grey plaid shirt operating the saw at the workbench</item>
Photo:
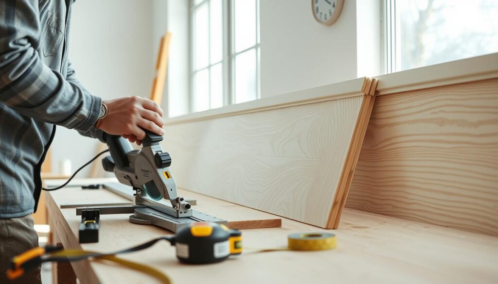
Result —
<path fill-rule="evenodd" d="M 159 135 L 162 110 L 153 101 L 102 101 L 75 78 L 68 60 L 74 0 L 0 1 L 0 283 L 10 259 L 38 245 L 31 213 L 41 190 L 40 167 L 55 125 L 86 136 L 98 131 L 140 143 L 142 128 Z M 90 40 L 90 39 L 89 39 Z M 16 283 L 41 283 L 40 270 Z"/>

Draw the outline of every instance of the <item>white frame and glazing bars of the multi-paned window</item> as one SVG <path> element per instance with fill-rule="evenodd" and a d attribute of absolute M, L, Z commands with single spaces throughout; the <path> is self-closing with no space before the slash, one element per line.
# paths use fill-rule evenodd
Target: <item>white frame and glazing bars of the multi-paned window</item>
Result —
<path fill-rule="evenodd" d="M 201 0 L 197 5 L 194 3 L 195 0 L 189 0 L 189 87 L 190 92 L 189 97 L 189 112 L 198 112 L 196 110 L 196 92 L 195 92 L 195 75 L 203 70 L 208 70 L 208 81 L 209 81 L 209 109 L 211 108 L 211 68 L 217 64 L 222 64 L 222 80 L 223 80 L 223 106 L 234 104 L 236 101 L 235 94 L 235 60 L 237 55 L 255 49 L 256 54 L 256 99 L 260 98 L 260 29 L 259 29 L 259 0 L 254 0 L 256 3 L 256 40 L 255 44 L 240 51 L 235 51 L 235 0 L 222 0 L 222 59 L 219 62 L 211 63 L 209 58 L 208 65 L 199 70 L 195 67 L 195 11 L 200 6 L 208 5 L 208 30 L 211 32 L 211 9 L 210 2 L 212 0 Z M 208 56 L 211 55 L 211 34 L 208 36 Z"/>

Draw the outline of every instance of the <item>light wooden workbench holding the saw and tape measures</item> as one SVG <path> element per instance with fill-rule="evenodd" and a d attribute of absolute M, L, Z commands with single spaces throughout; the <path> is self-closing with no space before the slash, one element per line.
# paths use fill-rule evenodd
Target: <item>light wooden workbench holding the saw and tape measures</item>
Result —
<path fill-rule="evenodd" d="M 89 181 L 89 184 L 91 181 Z M 67 194 L 71 190 L 71 194 Z M 103 190 L 103 189 L 100 189 Z M 66 188 L 44 192 L 55 238 L 66 248 L 109 252 L 169 234 L 155 226 L 128 222 L 128 214 L 102 215 L 100 242 L 78 243 L 74 208 L 60 204 L 92 200 L 91 190 Z M 109 195 L 105 202 L 123 202 Z M 198 202 L 209 202 L 198 200 Z M 282 247 L 294 232 L 329 231 L 283 219 L 281 228 L 243 230 L 244 246 Z M 168 243 L 159 243 L 123 258 L 153 265 L 174 283 L 498 283 L 498 238 L 435 225 L 345 209 L 338 246 L 320 252 L 243 254 L 214 265 L 183 265 Z M 122 267 L 98 262 L 72 263 L 77 278 L 87 283 L 157 283 Z"/>

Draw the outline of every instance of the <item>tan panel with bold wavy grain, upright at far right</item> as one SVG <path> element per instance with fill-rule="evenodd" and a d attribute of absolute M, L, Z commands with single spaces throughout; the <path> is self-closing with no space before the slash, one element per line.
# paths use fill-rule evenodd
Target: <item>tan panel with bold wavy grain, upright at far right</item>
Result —
<path fill-rule="evenodd" d="M 346 206 L 498 235 L 498 79 L 377 96 Z"/>

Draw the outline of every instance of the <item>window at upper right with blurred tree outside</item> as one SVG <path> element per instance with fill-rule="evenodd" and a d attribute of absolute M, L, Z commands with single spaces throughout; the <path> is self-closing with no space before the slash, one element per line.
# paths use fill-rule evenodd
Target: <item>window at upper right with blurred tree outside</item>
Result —
<path fill-rule="evenodd" d="M 498 52 L 496 0 L 384 0 L 386 72 Z"/>

